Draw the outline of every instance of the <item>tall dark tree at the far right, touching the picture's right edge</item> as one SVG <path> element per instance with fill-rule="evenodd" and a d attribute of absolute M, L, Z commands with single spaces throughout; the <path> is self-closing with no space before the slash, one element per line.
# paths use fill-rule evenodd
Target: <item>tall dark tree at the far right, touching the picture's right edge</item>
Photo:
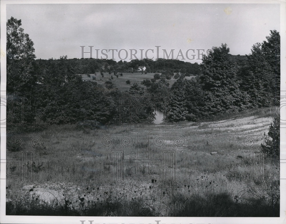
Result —
<path fill-rule="evenodd" d="M 280 91 L 280 35 L 270 31 L 267 41 L 256 43 L 247 55 L 247 63 L 241 69 L 242 89 L 250 96 L 252 107 L 261 107 L 265 95 L 275 96 Z"/>

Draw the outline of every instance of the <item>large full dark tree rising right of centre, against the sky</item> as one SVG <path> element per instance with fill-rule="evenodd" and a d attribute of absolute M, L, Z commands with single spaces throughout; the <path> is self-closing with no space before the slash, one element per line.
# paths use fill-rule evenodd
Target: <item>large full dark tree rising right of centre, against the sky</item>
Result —
<path fill-rule="evenodd" d="M 238 110 L 245 104 L 237 82 L 238 66 L 231 58 L 227 44 L 212 50 L 212 59 L 203 55 L 199 76 L 202 89 L 208 95 L 208 109 L 212 114 Z"/>

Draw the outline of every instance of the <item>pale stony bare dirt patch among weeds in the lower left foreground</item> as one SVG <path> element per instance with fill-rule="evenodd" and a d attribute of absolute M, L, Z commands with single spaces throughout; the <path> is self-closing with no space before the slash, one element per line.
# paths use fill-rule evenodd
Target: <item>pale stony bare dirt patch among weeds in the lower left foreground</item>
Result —
<path fill-rule="evenodd" d="M 81 201 L 106 201 L 109 197 L 133 200 L 141 197 L 149 197 L 154 188 L 160 184 L 160 180 L 153 183 L 139 180 L 125 180 L 116 185 L 78 186 L 73 183 L 43 183 L 37 185 L 26 185 L 22 192 L 29 192 L 31 197 L 47 203 L 63 204 L 64 200 L 71 201 L 74 206 L 79 206 Z"/>

